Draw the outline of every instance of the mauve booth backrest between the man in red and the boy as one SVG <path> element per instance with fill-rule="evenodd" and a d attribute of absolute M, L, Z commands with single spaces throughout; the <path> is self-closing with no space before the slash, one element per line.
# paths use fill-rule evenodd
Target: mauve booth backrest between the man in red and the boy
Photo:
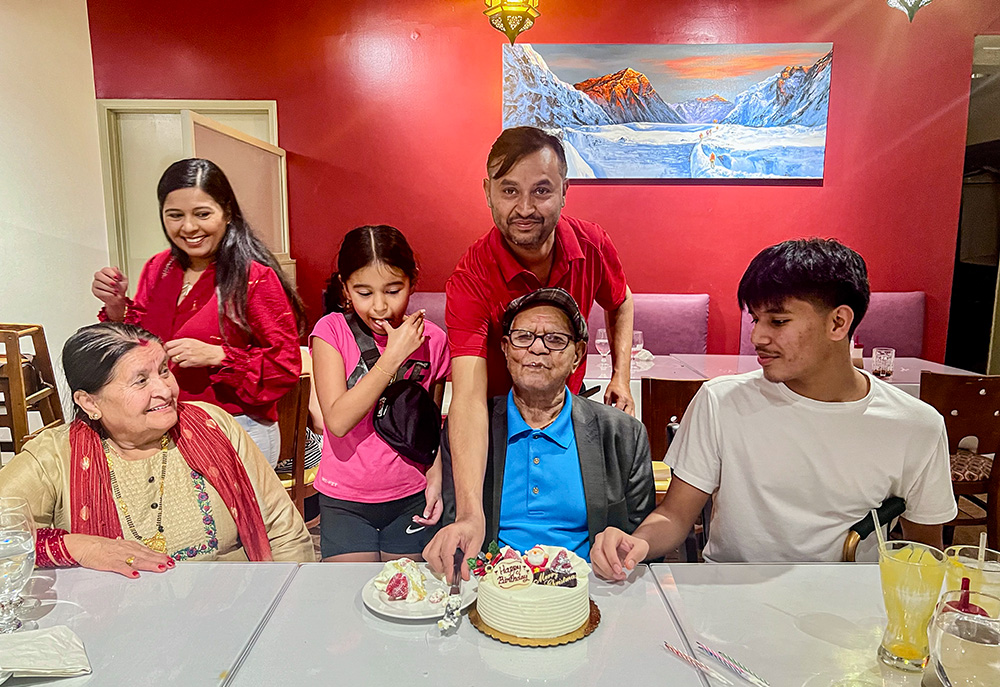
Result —
<path fill-rule="evenodd" d="M 707 293 L 635 293 L 632 298 L 635 329 L 642 332 L 647 351 L 653 355 L 708 351 Z M 587 321 L 589 353 L 597 353 L 594 339 L 604 326 L 604 308 L 595 303 Z"/>

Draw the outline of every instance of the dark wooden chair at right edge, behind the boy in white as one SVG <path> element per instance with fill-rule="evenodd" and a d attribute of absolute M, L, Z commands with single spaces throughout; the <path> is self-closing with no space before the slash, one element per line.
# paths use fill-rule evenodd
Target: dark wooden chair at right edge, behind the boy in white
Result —
<path fill-rule="evenodd" d="M 946 535 L 957 525 L 986 525 L 990 548 L 1000 548 L 1000 470 L 993 470 L 993 459 L 983 455 L 1000 449 L 1000 376 L 924 371 L 920 374 L 920 399 L 944 417 L 956 498 L 960 502 L 967 499 L 986 512 L 984 517 L 952 520 L 946 525 Z M 966 437 L 978 439 L 976 452 L 959 446 Z M 983 494 L 986 501 L 979 498 Z"/>

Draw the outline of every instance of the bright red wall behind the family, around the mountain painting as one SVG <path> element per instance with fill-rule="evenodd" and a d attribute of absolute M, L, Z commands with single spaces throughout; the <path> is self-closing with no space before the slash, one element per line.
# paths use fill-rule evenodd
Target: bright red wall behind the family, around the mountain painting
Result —
<path fill-rule="evenodd" d="M 274 99 L 288 151 L 291 252 L 313 315 L 343 234 L 389 223 L 440 290 L 491 226 L 483 165 L 500 131 L 500 48 L 480 0 L 90 0 L 98 98 Z M 973 36 L 995 0 L 910 24 L 884 0 L 542 0 L 538 43 L 832 41 L 822 186 L 580 185 L 637 292 L 711 294 L 709 352 L 736 352 L 736 285 L 766 245 L 833 236 L 875 290 L 928 294 L 944 356 Z M 152 189 L 151 189 L 152 191 Z"/>

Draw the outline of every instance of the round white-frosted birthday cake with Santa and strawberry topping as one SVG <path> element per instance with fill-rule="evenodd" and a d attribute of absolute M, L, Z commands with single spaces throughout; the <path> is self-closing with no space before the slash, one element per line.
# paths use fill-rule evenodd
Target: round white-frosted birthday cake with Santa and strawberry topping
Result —
<path fill-rule="evenodd" d="M 498 632 L 551 639 L 590 617 L 590 566 L 572 551 L 536 546 L 522 555 L 494 544 L 470 566 L 480 577 L 476 610 Z"/>

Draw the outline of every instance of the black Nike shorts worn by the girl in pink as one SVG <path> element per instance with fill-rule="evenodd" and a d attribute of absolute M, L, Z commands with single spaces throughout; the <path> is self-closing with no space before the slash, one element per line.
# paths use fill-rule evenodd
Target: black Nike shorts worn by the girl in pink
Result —
<path fill-rule="evenodd" d="M 343 501 L 320 494 L 323 558 L 364 551 L 420 553 L 438 529 L 413 522 L 414 515 L 423 515 L 426 503 L 422 491 L 385 503 Z"/>

